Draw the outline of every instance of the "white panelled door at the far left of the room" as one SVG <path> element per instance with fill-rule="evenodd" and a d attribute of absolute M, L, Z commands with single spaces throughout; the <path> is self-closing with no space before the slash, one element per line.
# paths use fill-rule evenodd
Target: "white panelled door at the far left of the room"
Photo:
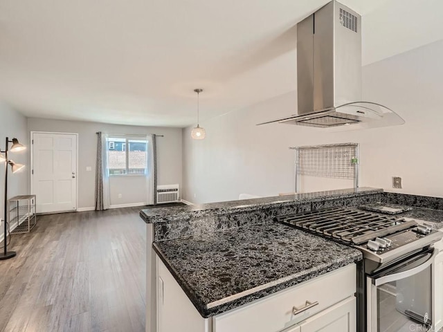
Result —
<path fill-rule="evenodd" d="M 37 213 L 77 210 L 77 135 L 33 133 L 32 140 Z"/>

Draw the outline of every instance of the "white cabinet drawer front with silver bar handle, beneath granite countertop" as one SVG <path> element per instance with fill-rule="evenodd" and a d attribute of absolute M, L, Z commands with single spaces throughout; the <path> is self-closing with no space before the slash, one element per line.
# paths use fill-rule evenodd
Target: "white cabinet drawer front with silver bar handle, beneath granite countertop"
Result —
<path fill-rule="evenodd" d="M 306 320 L 356 291 L 356 266 L 351 264 L 330 273 L 235 308 L 213 318 L 213 332 L 277 332 Z M 293 307 L 318 304 L 293 315 Z"/>

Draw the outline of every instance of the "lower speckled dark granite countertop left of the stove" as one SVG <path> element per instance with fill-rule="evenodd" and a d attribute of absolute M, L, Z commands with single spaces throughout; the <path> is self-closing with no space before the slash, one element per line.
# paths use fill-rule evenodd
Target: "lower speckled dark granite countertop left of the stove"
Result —
<path fill-rule="evenodd" d="M 359 250 L 274 222 L 153 246 L 202 317 L 363 259 Z"/>

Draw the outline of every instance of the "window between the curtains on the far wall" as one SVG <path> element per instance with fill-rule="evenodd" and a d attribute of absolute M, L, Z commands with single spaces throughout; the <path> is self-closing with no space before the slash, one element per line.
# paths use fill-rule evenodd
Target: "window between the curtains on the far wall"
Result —
<path fill-rule="evenodd" d="M 147 141 L 132 138 L 109 138 L 108 172 L 113 175 L 145 174 Z"/>

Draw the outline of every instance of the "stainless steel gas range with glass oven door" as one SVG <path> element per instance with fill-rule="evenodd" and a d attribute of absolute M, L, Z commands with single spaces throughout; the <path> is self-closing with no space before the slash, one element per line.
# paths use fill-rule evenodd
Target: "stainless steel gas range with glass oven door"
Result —
<path fill-rule="evenodd" d="M 432 245 L 442 239 L 442 232 L 426 223 L 356 208 L 275 219 L 361 250 L 364 259 L 357 275 L 357 331 L 428 331 L 432 317 L 431 264 L 438 251 Z"/>

